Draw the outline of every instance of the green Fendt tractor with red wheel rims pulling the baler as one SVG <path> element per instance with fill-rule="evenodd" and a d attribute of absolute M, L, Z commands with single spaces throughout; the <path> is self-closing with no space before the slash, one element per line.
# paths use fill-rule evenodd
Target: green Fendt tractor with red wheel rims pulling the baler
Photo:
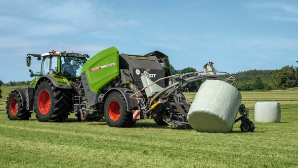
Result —
<path fill-rule="evenodd" d="M 32 111 L 39 121 L 60 122 L 72 111 L 71 83 L 80 79 L 80 72 L 89 55 L 52 51 L 45 54 L 28 54 L 41 60 L 40 72 L 30 76 L 34 79 L 28 88 L 16 88 L 9 94 L 7 114 L 10 120 L 28 120 Z"/>

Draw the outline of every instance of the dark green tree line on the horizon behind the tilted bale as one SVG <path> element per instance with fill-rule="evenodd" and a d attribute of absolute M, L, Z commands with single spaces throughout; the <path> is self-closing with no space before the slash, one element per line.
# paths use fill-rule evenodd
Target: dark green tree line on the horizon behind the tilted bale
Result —
<path fill-rule="evenodd" d="M 177 70 L 171 65 L 172 74 L 183 74 L 196 71 L 195 68 L 188 67 Z M 197 74 L 196 74 L 197 75 Z M 221 79 L 228 78 L 229 75 L 218 74 Z M 186 77 L 190 77 L 188 75 Z M 298 67 L 284 66 L 279 70 L 247 70 L 232 74 L 236 78 L 234 87 L 239 91 L 252 90 L 285 90 L 298 87 Z M 189 83 L 182 92 L 196 92 L 203 81 Z"/>

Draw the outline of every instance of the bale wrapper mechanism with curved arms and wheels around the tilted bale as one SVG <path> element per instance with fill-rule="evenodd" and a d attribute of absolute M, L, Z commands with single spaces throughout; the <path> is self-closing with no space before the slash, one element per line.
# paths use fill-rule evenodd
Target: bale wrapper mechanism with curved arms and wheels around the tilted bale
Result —
<path fill-rule="evenodd" d="M 167 76 L 164 78 L 160 78 L 156 81 L 152 81 L 150 85 L 144 87 L 140 91 L 136 92 L 134 95 L 130 96 L 132 99 L 139 99 L 135 98 L 134 96 L 138 94 L 139 92 L 142 92 L 143 90 L 146 90 L 147 88 L 150 88 L 151 86 L 154 86 L 155 82 L 159 80 L 163 80 L 165 78 L 174 78 L 175 83 L 172 85 L 164 88 L 160 92 L 156 93 L 149 99 L 149 104 L 146 107 L 141 107 L 143 114 L 149 115 L 148 118 L 154 118 L 157 124 L 168 124 L 175 127 L 190 127 L 189 122 L 187 121 L 187 115 L 188 110 L 191 106 L 190 103 L 187 103 L 186 101 L 177 102 L 175 101 L 175 96 L 180 93 L 180 88 L 187 85 L 187 83 L 206 79 L 206 80 L 221 80 L 216 73 L 226 73 L 230 75 L 227 79 L 225 79 L 228 83 L 233 83 L 235 81 L 235 78 L 232 77 L 231 74 L 223 71 L 215 71 L 214 67 L 212 66 L 212 62 L 208 62 L 204 66 L 204 71 L 200 72 L 190 72 L 186 74 L 176 74 Z M 209 69 L 209 70 L 207 70 Z M 144 75 L 146 75 L 147 72 L 144 72 Z M 205 73 L 205 75 L 197 75 L 192 76 L 188 78 L 183 78 L 186 75 L 189 74 L 199 74 L 199 73 Z M 144 103 L 143 103 L 144 104 Z M 242 115 L 241 117 L 237 118 L 235 122 L 238 120 L 241 120 L 241 131 L 243 132 L 253 132 L 254 129 L 250 129 L 248 124 L 251 124 L 252 122 L 249 121 L 248 114 L 249 109 L 245 108 L 245 106 L 242 104 L 239 107 L 239 113 Z M 252 123 L 253 124 L 253 123 Z"/>

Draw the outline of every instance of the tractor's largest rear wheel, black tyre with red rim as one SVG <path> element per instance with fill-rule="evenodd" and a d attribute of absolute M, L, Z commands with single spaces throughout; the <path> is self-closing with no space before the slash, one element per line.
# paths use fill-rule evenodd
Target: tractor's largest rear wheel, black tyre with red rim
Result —
<path fill-rule="evenodd" d="M 44 79 L 37 85 L 34 95 L 34 111 L 38 121 L 63 121 L 69 115 L 70 104 L 68 92 L 56 88 L 49 79 Z"/>

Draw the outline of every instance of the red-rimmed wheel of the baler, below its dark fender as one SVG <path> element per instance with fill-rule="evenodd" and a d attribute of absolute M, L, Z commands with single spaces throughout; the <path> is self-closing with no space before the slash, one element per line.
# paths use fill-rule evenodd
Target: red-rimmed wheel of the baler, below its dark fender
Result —
<path fill-rule="evenodd" d="M 105 101 L 104 115 L 110 127 L 132 127 L 133 113 L 127 111 L 127 105 L 123 95 L 119 92 L 112 92 Z"/>

